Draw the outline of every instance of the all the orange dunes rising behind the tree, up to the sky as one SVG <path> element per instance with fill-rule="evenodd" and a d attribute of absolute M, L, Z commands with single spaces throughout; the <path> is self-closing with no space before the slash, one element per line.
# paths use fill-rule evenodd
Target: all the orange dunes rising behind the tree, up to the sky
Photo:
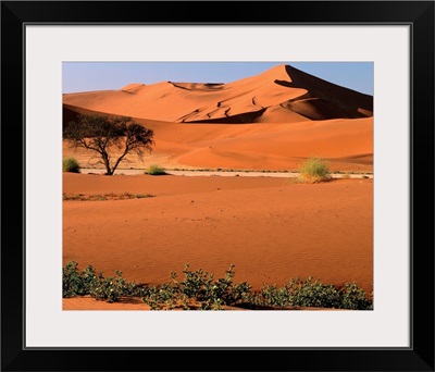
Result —
<path fill-rule="evenodd" d="M 64 95 L 64 125 L 80 112 L 152 128 L 153 157 L 166 165 L 291 170 L 321 156 L 332 169 L 373 169 L 373 97 L 289 65 L 228 84 L 133 83 Z"/>

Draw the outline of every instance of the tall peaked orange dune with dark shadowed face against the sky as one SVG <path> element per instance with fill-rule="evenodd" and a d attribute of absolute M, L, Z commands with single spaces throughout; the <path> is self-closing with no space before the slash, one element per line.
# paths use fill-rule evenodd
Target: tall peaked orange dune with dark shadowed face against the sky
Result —
<path fill-rule="evenodd" d="M 371 116 L 373 97 L 289 65 L 228 84 L 161 82 L 63 96 L 65 104 L 169 122 L 273 123 Z"/>

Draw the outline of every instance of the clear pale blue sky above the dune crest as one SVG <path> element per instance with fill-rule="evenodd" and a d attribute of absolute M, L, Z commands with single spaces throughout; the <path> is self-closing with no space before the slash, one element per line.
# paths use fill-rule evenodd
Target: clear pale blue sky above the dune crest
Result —
<path fill-rule="evenodd" d="M 372 62 L 63 62 L 62 91 L 121 89 L 163 80 L 229 83 L 289 64 L 331 83 L 373 96 Z"/>

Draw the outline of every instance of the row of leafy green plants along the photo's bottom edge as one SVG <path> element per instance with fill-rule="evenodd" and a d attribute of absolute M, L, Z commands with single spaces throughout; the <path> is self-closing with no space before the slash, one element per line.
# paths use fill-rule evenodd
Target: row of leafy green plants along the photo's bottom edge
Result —
<path fill-rule="evenodd" d="M 373 310 L 373 293 L 368 296 L 357 283 L 343 286 L 324 284 L 310 276 L 291 278 L 283 287 L 263 285 L 253 292 L 249 283 L 235 284 L 234 265 L 225 276 L 215 280 L 213 273 L 201 269 L 191 271 L 189 264 L 183 270 L 184 278 L 178 281 L 175 272 L 171 281 L 157 286 L 127 282 L 122 272 L 104 277 L 88 265 L 79 271 L 72 261 L 63 268 L 63 297 L 90 295 L 97 300 L 119 301 L 121 297 L 140 297 L 151 310 L 224 310 L 226 307 L 264 309 L 273 307 L 316 307 L 350 310 Z"/>

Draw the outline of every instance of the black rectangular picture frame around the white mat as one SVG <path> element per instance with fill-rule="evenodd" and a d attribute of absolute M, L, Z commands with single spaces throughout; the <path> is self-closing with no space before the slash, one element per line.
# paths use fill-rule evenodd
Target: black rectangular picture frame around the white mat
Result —
<path fill-rule="evenodd" d="M 24 26 L 69 23 L 411 25 L 411 346 L 27 349 Z M 1 52 L 2 371 L 434 371 L 434 1 L 2 1 Z"/>

